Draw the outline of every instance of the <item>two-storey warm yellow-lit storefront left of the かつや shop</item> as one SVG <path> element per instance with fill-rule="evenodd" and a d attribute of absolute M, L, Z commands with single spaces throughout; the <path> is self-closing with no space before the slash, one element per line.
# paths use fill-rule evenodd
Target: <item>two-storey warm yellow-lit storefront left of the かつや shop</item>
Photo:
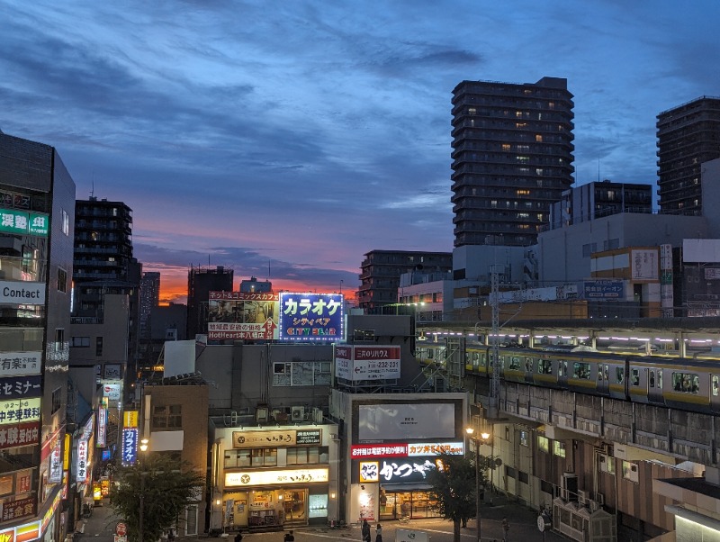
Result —
<path fill-rule="evenodd" d="M 338 513 L 337 430 L 216 429 L 211 528 L 327 524 Z"/>

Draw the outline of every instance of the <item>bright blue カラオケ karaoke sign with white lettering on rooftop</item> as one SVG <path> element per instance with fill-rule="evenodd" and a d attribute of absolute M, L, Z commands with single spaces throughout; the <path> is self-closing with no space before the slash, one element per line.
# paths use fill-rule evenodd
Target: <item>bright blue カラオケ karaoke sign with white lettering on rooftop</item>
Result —
<path fill-rule="evenodd" d="M 342 294 L 280 294 L 280 339 L 342 340 Z"/>

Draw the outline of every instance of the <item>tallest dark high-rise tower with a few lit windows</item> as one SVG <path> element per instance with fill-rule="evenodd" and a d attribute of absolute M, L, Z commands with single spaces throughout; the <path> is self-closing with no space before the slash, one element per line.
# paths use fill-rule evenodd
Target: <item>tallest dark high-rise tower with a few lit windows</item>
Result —
<path fill-rule="evenodd" d="M 572 185 L 567 80 L 463 81 L 453 91 L 455 247 L 534 245 Z"/>

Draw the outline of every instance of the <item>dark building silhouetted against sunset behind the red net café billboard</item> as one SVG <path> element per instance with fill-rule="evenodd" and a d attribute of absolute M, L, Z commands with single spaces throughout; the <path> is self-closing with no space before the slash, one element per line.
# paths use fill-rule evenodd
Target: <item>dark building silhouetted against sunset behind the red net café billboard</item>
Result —
<path fill-rule="evenodd" d="M 187 273 L 188 339 L 208 332 L 208 301 L 211 292 L 232 292 L 232 269 L 223 266 L 191 267 Z"/>

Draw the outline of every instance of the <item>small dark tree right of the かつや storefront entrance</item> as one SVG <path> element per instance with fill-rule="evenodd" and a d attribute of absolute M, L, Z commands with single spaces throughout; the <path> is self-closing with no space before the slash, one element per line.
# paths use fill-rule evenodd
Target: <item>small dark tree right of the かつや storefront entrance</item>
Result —
<path fill-rule="evenodd" d="M 480 458 L 480 479 L 484 480 L 486 461 Z M 431 499 L 437 501 L 437 510 L 443 519 L 453 521 L 453 539 L 460 542 L 460 526 L 475 515 L 475 462 L 474 458 L 440 454 L 437 468 L 428 471 L 432 486 Z"/>

